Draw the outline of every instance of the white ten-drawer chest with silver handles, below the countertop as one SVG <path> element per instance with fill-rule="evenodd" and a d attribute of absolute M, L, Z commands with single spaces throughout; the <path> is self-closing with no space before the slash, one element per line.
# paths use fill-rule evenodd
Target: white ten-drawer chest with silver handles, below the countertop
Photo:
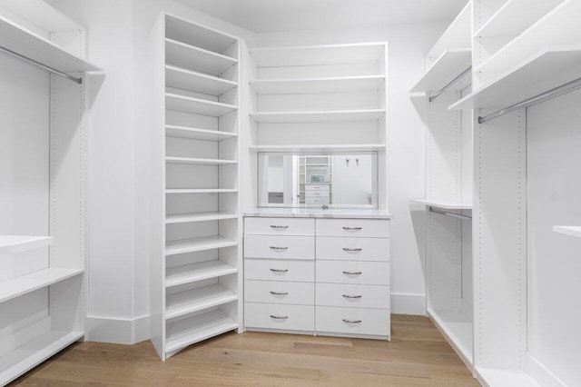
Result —
<path fill-rule="evenodd" d="M 389 219 L 244 219 L 247 330 L 390 340 Z"/>

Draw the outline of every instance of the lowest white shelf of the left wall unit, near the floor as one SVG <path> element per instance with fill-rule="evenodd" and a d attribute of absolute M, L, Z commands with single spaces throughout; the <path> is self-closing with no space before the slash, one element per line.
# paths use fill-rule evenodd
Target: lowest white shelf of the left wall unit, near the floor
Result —
<path fill-rule="evenodd" d="M 83 332 L 46 332 L 0 357 L 0 384 L 15 380 L 84 336 Z"/>

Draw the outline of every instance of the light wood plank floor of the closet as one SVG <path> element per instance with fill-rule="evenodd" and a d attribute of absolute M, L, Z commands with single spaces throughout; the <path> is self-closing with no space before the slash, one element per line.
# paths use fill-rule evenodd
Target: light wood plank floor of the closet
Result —
<path fill-rule="evenodd" d="M 478 386 L 425 317 L 392 316 L 392 341 L 234 332 L 161 362 L 151 342 L 80 342 L 13 386 Z"/>

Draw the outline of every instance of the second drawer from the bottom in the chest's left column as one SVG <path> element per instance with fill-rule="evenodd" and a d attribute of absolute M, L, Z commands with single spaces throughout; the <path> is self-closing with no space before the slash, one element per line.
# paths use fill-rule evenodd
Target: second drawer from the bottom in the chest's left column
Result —
<path fill-rule="evenodd" d="M 314 283 L 280 281 L 244 281 L 246 303 L 291 303 L 310 305 L 315 303 Z"/>

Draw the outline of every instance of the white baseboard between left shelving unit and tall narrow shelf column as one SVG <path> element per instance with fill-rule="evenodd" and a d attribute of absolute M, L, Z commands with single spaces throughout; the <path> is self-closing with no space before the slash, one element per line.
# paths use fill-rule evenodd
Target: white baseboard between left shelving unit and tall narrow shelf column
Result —
<path fill-rule="evenodd" d="M 88 342 L 116 344 L 134 344 L 149 340 L 149 315 L 134 319 L 87 316 L 84 338 Z"/>

